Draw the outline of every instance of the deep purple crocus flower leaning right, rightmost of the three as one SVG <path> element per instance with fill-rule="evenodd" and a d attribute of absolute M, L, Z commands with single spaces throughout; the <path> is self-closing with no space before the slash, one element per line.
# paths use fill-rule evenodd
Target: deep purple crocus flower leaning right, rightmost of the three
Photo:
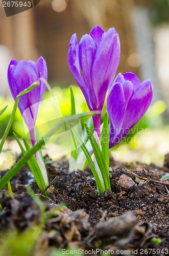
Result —
<path fill-rule="evenodd" d="M 152 97 L 150 79 L 141 83 L 133 73 L 118 74 L 107 97 L 110 148 L 118 144 L 146 113 Z"/>

